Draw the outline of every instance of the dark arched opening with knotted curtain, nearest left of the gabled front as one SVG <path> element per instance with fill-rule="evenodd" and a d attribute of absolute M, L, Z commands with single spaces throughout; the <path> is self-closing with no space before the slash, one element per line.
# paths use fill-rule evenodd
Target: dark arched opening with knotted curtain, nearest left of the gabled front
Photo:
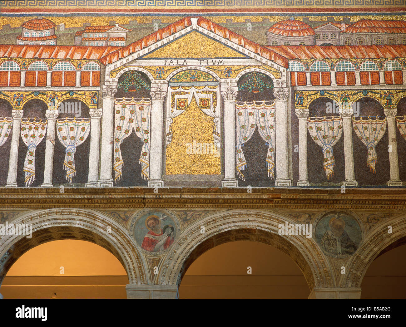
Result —
<path fill-rule="evenodd" d="M 89 174 L 89 107 L 78 99 L 65 99 L 58 112 L 52 184 L 84 186 Z"/>

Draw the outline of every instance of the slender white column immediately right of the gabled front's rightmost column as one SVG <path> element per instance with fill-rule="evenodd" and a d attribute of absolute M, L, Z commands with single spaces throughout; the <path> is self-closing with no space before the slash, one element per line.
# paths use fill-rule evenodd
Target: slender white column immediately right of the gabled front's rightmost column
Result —
<path fill-rule="evenodd" d="M 307 176 L 307 117 L 309 111 L 305 109 L 296 109 L 296 116 L 299 118 L 299 180 L 297 186 L 309 186 L 309 177 Z"/>

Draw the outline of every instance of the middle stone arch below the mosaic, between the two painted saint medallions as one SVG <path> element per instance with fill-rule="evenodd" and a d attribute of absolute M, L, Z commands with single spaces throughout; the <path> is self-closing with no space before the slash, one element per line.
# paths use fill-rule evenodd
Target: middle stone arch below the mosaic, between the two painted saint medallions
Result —
<path fill-rule="evenodd" d="M 314 239 L 279 235 L 279 224 L 295 223 L 292 219 L 260 212 L 229 212 L 206 217 L 192 224 L 162 263 L 158 280 L 164 285 L 179 285 L 191 263 L 203 252 L 229 241 L 259 241 L 272 245 L 294 260 L 302 270 L 310 289 L 333 287 L 334 274 Z M 201 233 L 200 226 L 205 227 Z"/>

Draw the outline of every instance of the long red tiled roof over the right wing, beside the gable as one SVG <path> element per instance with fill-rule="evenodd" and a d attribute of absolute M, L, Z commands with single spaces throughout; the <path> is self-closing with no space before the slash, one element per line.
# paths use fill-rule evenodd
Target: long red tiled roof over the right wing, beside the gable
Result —
<path fill-rule="evenodd" d="M 267 45 L 266 47 L 289 59 L 406 57 L 406 45 Z"/>

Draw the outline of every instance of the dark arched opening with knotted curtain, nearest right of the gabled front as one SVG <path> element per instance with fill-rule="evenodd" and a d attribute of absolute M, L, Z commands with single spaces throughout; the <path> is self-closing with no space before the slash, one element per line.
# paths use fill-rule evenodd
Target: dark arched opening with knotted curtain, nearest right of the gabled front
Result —
<path fill-rule="evenodd" d="M 309 104 L 307 171 L 311 185 L 339 186 L 345 180 L 344 138 L 338 108 L 339 104 L 327 97 L 317 98 Z M 297 120 L 296 124 L 298 126 Z M 328 138 L 323 139 L 324 135 Z M 324 147 L 324 144 L 328 146 Z"/>

